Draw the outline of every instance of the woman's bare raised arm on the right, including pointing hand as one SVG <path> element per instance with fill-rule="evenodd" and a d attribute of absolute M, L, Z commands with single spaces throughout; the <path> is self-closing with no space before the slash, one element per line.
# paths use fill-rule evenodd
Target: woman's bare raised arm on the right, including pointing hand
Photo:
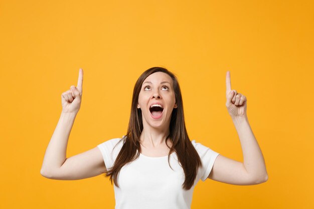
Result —
<path fill-rule="evenodd" d="M 246 115 L 247 99 L 231 90 L 230 72 L 226 74 L 226 107 L 238 132 L 243 163 L 218 155 L 208 178 L 235 185 L 252 185 L 267 181 L 268 174 L 262 151 Z"/>

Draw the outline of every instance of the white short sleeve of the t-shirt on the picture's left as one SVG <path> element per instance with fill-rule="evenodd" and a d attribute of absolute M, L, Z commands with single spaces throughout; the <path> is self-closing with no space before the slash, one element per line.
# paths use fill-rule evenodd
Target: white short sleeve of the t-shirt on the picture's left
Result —
<path fill-rule="evenodd" d="M 121 138 L 109 139 L 97 145 L 101 151 L 107 170 L 112 168 L 113 163 L 122 148 L 122 145 Z"/>

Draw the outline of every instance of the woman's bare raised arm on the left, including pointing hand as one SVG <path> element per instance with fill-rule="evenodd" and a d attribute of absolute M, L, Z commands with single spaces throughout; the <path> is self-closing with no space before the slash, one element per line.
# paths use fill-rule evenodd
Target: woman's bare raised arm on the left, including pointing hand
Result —
<path fill-rule="evenodd" d="M 69 135 L 82 99 L 83 70 L 79 70 L 77 87 L 62 93 L 62 113 L 50 139 L 40 173 L 53 179 L 74 180 L 92 177 L 106 171 L 100 150 L 95 147 L 66 158 Z"/>

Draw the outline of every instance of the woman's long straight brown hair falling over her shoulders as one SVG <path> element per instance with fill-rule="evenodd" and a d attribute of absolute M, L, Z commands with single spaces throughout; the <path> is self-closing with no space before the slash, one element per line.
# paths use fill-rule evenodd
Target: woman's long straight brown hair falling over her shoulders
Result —
<path fill-rule="evenodd" d="M 117 155 L 117 158 L 114 161 L 112 168 L 105 173 L 105 177 L 110 176 L 111 184 L 113 179 L 114 184 L 117 187 L 119 187 L 117 183 L 117 176 L 120 169 L 126 163 L 134 161 L 139 156 L 140 153 L 139 137 L 143 130 L 143 122 L 141 110 L 137 108 L 138 95 L 144 80 L 150 74 L 155 72 L 167 73 L 173 80 L 173 88 L 175 91 L 175 98 L 178 107 L 174 108 L 172 111 L 170 121 L 170 134 L 166 139 L 167 146 L 168 146 L 167 140 L 172 141 L 172 147 L 169 147 L 170 151 L 168 155 L 168 163 L 170 165 L 169 162 L 170 154 L 176 152 L 178 156 L 178 161 L 181 164 L 185 174 L 185 181 L 182 184 L 183 188 L 189 190 L 194 184 L 195 178 L 198 173 L 198 168 L 202 166 L 202 162 L 199 154 L 194 148 L 187 133 L 184 120 L 182 95 L 177 77 L 172 72 L 162 67 L 149 68 L 148 70 L 143 72 L 137 79 L 133 89 L 131 115 L 127 128 L 127 133 L 124 137 L 122 137 L 121 139 L 123 140 L 122 148 L 119 154 Z"/>

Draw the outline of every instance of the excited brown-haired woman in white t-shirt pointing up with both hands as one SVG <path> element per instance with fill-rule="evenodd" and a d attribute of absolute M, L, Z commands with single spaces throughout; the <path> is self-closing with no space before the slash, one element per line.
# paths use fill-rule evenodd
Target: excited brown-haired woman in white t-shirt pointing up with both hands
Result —
<path fill-rule="evenodd" d="M 74 180 L 105 173 L 114 182 L 115 208 L 191 208 L 197 182 L 207 178 L 252 185 L 268 178 L 259 145 L 248 123 L 246 97 L 231 90 L 226 74 L 226 107 L 237 129 L 244 162 L 190 141 L 176 76 L 153 67 L 135 83 L 126 135 L 66 158 L 66 148 L 82 98 L 83 70 L 77 87 L 62 94 L 60 120 L 49 142 L 41 174 Z"/>

